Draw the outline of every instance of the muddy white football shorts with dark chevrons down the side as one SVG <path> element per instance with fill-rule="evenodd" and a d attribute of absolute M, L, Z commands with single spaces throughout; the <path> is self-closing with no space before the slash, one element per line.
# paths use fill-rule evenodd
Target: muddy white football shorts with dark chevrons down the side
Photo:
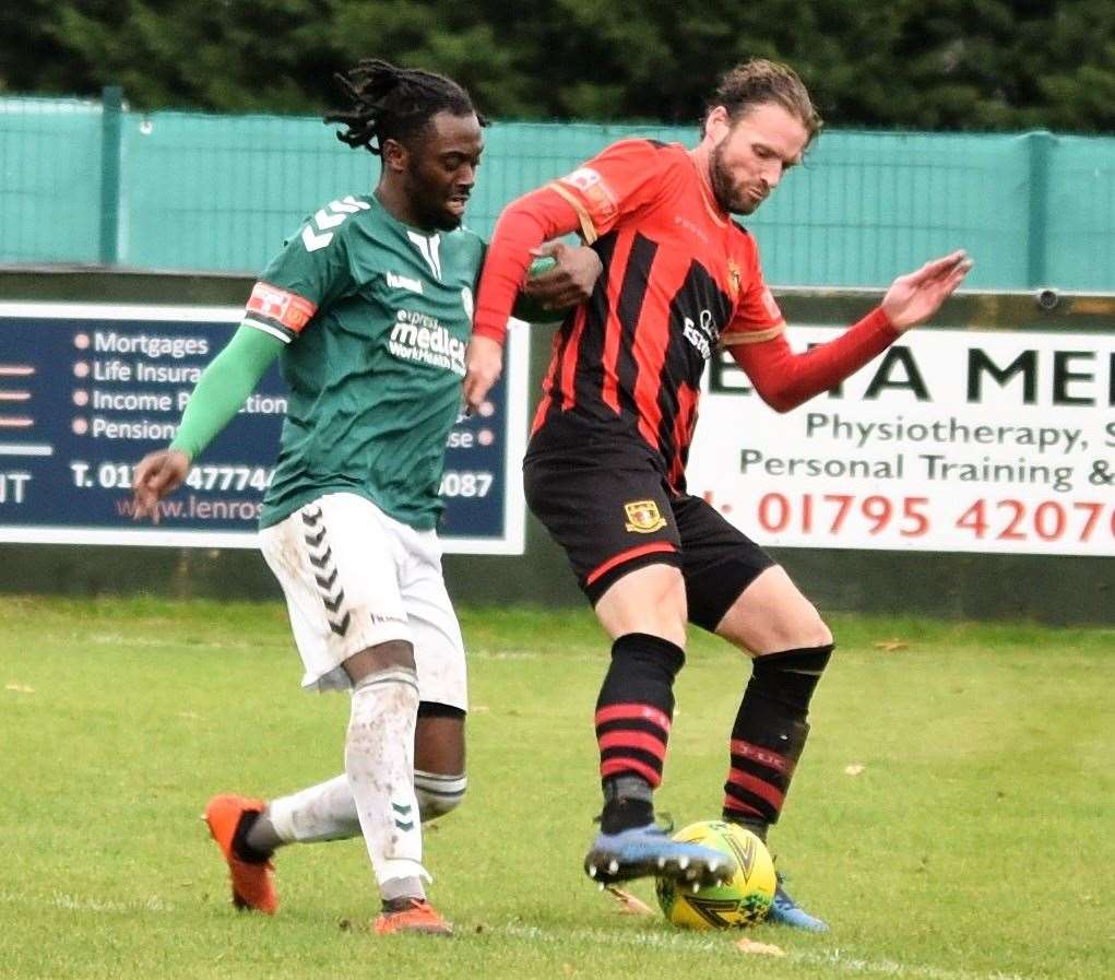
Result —
<path fill-rule="evenodd" d="M 345 660 L 406 640 L 420 700 L 467 709 L 464 642 L 434 531 L 416 531 L 361 496 L 336 493 L 262 530 L 260 547 L 287 596 L 306 668 L 302 687 L 349 689 Z"/>

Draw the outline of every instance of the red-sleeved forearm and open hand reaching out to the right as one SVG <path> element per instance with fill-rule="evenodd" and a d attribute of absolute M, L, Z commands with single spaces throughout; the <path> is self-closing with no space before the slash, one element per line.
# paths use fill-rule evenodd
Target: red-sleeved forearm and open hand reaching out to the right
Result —
<path fill-rule="evenodd" d="M 789 411 L 835 387 L 878 357 L 911 327 L 935 313 L 963 281 L 972 262 L 963 251 L 900 275 L 882 303 L 835 340 L 795 353 L 783 333 L 729 347 L 731 356 L 776 411 Z"/>

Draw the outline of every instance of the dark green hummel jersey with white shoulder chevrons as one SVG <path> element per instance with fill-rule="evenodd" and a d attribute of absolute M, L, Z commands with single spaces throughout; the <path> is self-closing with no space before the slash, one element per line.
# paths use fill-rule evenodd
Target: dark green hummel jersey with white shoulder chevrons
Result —
<path fill-rule="evenodd" d="M 473 232 L 408 227 L 375 195 L 331 202 L 287 243 L 244 314 L 288 345 L 290 399 L 260 526 L 336 492 L 435 525 L 483 258 Z"/>

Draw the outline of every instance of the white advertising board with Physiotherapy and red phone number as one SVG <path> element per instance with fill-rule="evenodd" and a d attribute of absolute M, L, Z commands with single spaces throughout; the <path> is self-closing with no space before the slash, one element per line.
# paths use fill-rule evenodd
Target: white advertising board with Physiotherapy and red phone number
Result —
<path fill-rule="evenodd" d="M 1115 555 L 1115 334 L 913 330 L 786 415 L 710 368 L 689 492 L 763 545 Z"/>

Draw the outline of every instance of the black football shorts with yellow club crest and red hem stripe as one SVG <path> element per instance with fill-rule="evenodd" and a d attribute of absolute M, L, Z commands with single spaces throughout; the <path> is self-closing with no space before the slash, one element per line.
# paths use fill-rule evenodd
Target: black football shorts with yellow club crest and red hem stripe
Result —
<path fill-rule="evenodd" d="M 739 594 L 776 564 L 700 497 L 673 494 L 644 459 L 537 453 L 523 463 L 526 502 L 565 551 L 595 605 L 649 564 L 681 570 L 689 621 L 714 631 Z"/>

